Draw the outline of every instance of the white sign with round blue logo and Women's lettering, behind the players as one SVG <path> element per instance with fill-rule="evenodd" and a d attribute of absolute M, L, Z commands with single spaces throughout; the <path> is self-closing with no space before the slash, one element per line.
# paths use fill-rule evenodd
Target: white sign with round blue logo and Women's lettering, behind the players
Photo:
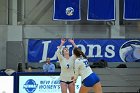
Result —
<path fill-rule="evenodd" d="M 75 84 L 76 93 L 81 86 L 79 76 Z M 19 93 L 61 93 L 59 76 L 19 76 Z"/>

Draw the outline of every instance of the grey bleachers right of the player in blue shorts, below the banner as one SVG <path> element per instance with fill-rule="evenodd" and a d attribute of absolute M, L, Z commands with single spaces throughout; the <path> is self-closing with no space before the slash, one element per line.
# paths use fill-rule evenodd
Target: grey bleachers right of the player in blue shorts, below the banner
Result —
<path fill-rule="evenodd" d="M 136 93 L 140 88 L 140 68 L 95 68 L 93 71 L 100 76 L 104 93 Z"/>

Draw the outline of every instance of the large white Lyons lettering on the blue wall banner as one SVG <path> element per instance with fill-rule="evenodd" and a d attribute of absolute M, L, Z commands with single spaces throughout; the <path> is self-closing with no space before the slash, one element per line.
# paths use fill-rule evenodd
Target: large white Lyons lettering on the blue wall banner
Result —
<path fill-rule="evenodd" d="M 51 43 L 51 41 L 42 42 L 42 44 L 44 45 L 44 48 L 43 48 L 42 60 L 40 60 L 40 62 L 44 62 L 46 60 L 47 53 L 48 53 L 48 46 L 50 43 Z M 62 49 L 64 47 L 65 46 L 62 46 Z M 70 49 L 72 47 L 72 45 L 66 45 L 66 47 L 68 49 Z M 77 47 L 81 48 L 83 53 L 88 53 L 87 57 L 103 57 L 103 56 L 105 56 L 106 58 L 113 58 L 115 56 L 115 52 L 114 52 L 115 46 L 113 46 L 113 45 L 107 45 L 105 47 L 104 54 L 102 53 L 102 46 L 101 45 L 92 45 L 92 44 L 87 45 L 87 47 L 89 48 L 88 50 L 86 50 L 86 47 L 82 44 L 77 45 Z M 57 59 L 57 55 L 56 55 L 56 53 L 54 53 L 54 56 L 51 58 L 51 60 L 56 60 L 56 59 Z"/>

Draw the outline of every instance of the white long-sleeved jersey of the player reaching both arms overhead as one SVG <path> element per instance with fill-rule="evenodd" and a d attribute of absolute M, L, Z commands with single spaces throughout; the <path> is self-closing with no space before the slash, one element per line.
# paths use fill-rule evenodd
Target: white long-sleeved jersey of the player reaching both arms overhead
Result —
<path fill-rule="evenodd" d="M 62 56 L 60 49 L 57 49 L 57 56 L 61 66 L 60 80 L 62 81 L 72 81 L 71 77 L 74 76 L 74 60 L 75 57 L 71 56 L 69 59 L 66 59 Z"/>

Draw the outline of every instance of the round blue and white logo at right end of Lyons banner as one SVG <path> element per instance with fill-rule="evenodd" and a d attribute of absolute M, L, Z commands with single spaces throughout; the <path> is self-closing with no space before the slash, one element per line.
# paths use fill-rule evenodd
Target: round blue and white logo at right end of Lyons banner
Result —
<path fill-rule="evenodd" d="M 123 62 L 140 62 L 140 40 L 129 40 L 120 48 Z"/>

